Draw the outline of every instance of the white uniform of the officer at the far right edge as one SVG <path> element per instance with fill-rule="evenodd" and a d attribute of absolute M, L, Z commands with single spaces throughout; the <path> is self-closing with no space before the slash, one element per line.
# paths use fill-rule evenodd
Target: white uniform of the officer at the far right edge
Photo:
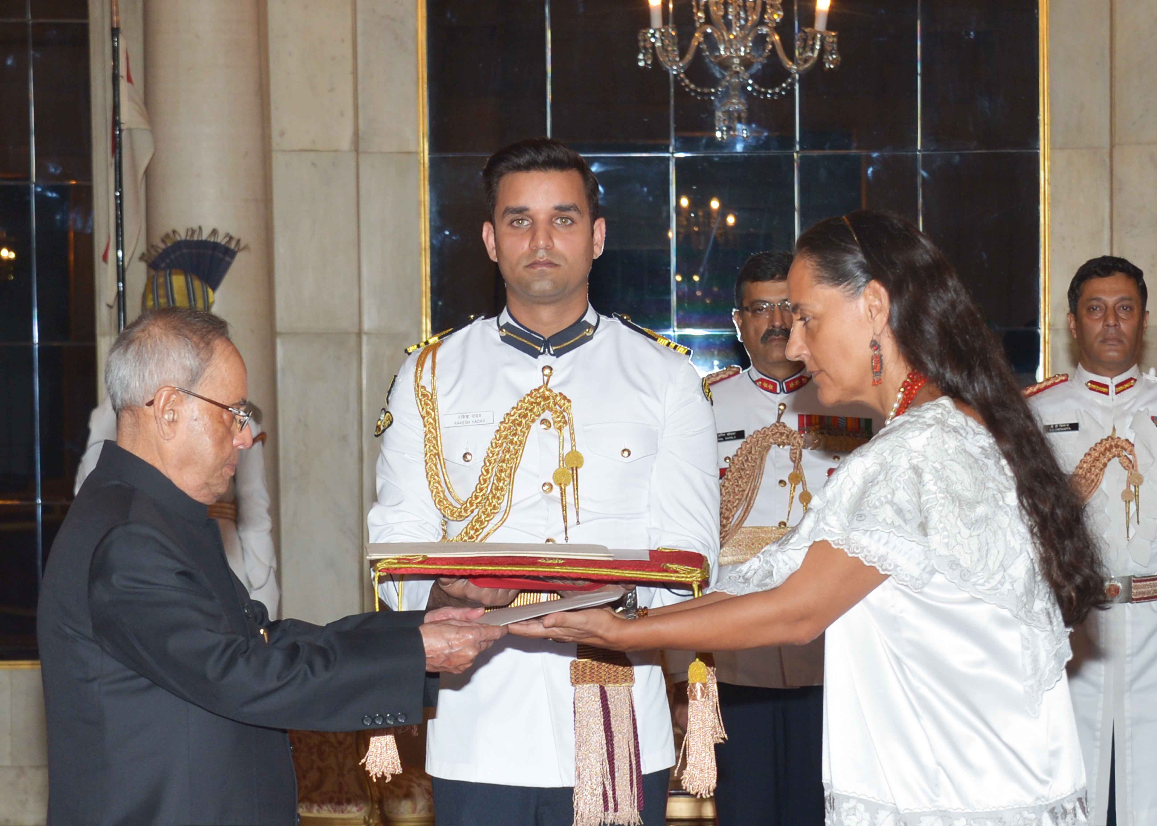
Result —
<path fill-rule="evenodd" d="M 1140 524 L 1130 509 L 1126 536 L 1121 492 L 1126 472 L 1115 459 L 1085 512 L 1100 540 L 1107 573 L 1157 574 L 1157 376 L 1134 367 L 1105 377 L 1078 367 L 1067 382 L 1029 399 L 1071 473 L 1085 452 L 1113 434 L 1136 448 L 1145 481 Z M 1115 732 L 1117 823 L 1157 824 L 1157 602 L 1114 604 L 1093 611 L 1073 632 L 1069 686 L 1089 775 L 1089 814 L 1106 821 L 1110 758 Z"/>

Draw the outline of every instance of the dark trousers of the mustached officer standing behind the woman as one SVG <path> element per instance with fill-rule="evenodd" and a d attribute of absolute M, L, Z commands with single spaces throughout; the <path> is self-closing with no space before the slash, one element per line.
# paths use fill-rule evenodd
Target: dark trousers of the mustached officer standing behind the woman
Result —
<path fill-rule="evenodd" d="M 718 826 L 823 826 L 824 687 L 720 683 Z"/>

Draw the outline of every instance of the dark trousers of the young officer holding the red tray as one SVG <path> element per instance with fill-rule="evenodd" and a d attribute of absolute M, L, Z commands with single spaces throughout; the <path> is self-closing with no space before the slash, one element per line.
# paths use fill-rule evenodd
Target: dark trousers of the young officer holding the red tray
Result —
<path fill-rule="evenodd" d="M 643 826 L 666 823 L 668 769 L 643 775 Z M 573 826 L 574 789 L 434 777 L 435 826 Z"/>

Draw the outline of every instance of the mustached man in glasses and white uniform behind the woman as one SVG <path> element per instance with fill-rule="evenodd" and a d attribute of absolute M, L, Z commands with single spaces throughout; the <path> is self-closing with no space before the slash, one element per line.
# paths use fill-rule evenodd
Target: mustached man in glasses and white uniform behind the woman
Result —
<path fill-rule="evenodd" d="M 795 475 L 788 448 L 767 450 L 744 528 L 795 525 L 804 512 L 801 500 L 810 501 L 803 484 L 818 491 L 843 456 L 880 427 L 861 405 L 821 405 L 803 364 L 787 357 L 790 267 L 789 252 L 759 252 L 747 259 L 736 280 L 732 320 L 751 367 L 727 368 L 707 378 L 721 479 L 739 447 L 761 428 L 782 421 L 803 435 L 803 479 Z M 727 556 L 730 548 L 723 553 Z M 717 651 L 715 665 L 728 732 L 716 750 L 721 826 L 820 826 L 823 636 L 806 646 Z"/>

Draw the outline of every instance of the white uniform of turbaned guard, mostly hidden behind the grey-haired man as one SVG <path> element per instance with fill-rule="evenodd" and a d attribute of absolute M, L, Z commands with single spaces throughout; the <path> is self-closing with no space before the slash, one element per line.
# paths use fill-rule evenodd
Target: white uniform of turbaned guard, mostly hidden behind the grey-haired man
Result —
<path fill-rule="evenodd" d="M 278 559 L 273 550 L 270 492 L 265 481 L 265 445 L 257 441 L 261 426 L 250 419 L 249 429 L 253 434 L 253 447 L 239 451 L 234 484 L 220 500 L 236 502 L 237 521 L 218 519 L 218 525 L 221 528 L 221 541 L 224 544 L 229 568 L 241 580 L 249 596 L 265 605 L 270 618 L 275 619 L 281 592 L 278 589 Z M 74 494 L 96 467 L 106 440 L 117 440 L 117 414 L 112 412 L 112 403 L 108 397 L 89 415 L 88 447 L 76 469 Z"/>

